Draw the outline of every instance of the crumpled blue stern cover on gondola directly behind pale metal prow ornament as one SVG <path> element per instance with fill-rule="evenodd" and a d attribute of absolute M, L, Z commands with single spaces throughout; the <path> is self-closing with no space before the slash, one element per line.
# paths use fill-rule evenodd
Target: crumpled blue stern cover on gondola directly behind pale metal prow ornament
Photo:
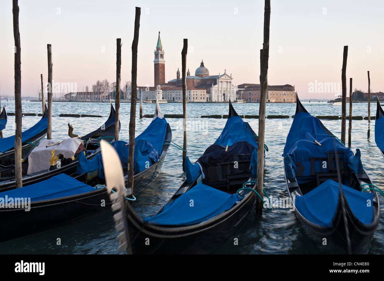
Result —
<path fill-rule="evenodd" d="M 161 149 L 166 137 L 167 121 L 157 117 L 139 136 L 135 138 L 134 172 L 139 173 L 159 161 Z M 129 145 L 127 142 L 115 141 L 112 146 L 121 160 L 123 168 L 127 168 Z M 86 159 L 84 154 L 79 154 L 79 164 L 76 173 L 81 175 L 86 172 L 98 170 L 98 176 L 104 179 L 103 159 L 101 154 L 93 159 Z"/>

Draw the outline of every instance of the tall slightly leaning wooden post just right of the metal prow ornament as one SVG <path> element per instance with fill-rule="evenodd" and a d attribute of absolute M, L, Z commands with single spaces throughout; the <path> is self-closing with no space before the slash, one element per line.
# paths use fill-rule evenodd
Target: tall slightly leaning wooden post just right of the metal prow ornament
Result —
<path fill-rule="evenodd" d="M 135 152 L 135 127 L 136 127 L 136 99 L 137 99 L 137 45 L 139 44 L 140 8 L 136 7 L 135 28 L 132 41 L 132 91 L 131 91 L 131 116 L 129 118 L 129 152 L 128 152 L 128 182 L 127 189 L 131 188 L 133 198 L 133 168 Z"/>

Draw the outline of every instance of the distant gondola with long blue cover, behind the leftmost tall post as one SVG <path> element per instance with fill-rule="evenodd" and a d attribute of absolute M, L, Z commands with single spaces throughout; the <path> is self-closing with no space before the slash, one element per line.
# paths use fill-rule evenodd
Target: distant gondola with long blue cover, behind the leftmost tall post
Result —
<path fill-rule="evenodd" d="M 40 121 L 22 132 L 22 158 L 24 159 L 46 135 L 48 129 L 48 110 L 44 103 L 45 110 Z M 5 112 L 5 108 L 3 109 Z M 3 118 L 3 112 L 1 118 Z M 5 113 L 6 114 L 6 113 Z M 5 126 L 5 125 L 4 125 Z M 1 129 L 1 128 L 0 128 Z M 4 128 L 3 128 L 4 129 Z M 15 136 L 0 139 L 0 165 L 15 164 Z"/>

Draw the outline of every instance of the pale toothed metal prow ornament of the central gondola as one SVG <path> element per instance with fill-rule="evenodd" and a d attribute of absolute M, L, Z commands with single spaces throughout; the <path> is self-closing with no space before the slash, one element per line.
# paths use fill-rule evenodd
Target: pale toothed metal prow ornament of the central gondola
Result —
<path fill-rule="evenodd" d="M 116 212 L 113 216 L 113 220 L 115 221 L 115 229 L 118 233 L 119 251 L 122 252 L 127 250 L 127 254 L 132 254 L 128 222 L 125 215 L 125 197 L 131 195 L 131 190 L 125 188 L 124 174 L 116 150 L 104 140 L 101 140 L 100 147 L 107 191 L 112 202 L 111 209 L 112 212 Z"/>

